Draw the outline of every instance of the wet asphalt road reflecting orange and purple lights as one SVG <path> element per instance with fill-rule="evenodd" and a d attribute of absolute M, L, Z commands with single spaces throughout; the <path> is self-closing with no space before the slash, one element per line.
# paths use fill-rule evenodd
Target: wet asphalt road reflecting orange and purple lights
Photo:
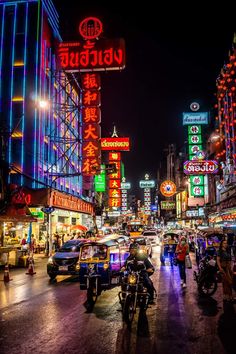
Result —
<path fill-rule="evenodd" d="M 213 298 L 199 298 L 193 267 L 182 289 L 178 268 L 160 266 L 159 247 L 153 256 L 155 304 L 146 315 L 135 315 L 131 330 L 122 323 L 118 288 L 103 292 L 93 313 L 86 313 L 79 283 L 59 277 L 50 284 L 46 261 L 35 259 L 34 276 L 16 269 L 12 281 L 0 282 L 1 354 L 236 352 L 236 305 L 223 305 L 221 284 Z"/>

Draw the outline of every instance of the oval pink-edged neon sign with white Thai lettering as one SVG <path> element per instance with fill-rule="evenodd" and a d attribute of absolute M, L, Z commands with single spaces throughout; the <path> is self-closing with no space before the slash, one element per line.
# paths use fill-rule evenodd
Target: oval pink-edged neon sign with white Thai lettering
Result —
<path fill-rule="evenodd" d="M 213 174 L 218 171 L 218 163 L 215 160 L 192 160 L 184 162 L 184 173 L 189 175 Z"/>

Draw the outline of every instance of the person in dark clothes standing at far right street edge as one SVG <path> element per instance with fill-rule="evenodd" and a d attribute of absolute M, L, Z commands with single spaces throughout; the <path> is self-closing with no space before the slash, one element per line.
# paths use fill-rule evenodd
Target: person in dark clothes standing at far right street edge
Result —
<path fill-rule="evenodd" d="M 216 257 L 219 271 L 222 274 L 223 300 L 233 301 L 233 271 L 231 265 L 231 252 L 229 251 L 228 242 L 222 239 Z"/>

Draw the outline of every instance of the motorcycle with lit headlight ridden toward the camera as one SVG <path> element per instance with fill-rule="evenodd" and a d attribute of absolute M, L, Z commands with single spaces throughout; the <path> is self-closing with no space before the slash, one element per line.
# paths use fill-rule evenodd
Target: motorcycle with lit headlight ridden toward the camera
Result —
<path fill-rule="evenodd" d="M 121 280 L 121 291 L 118 293 L 122 306 L 122 318 L 125 323 L 131 325 L 137 307 L 146 311 L 150 298 L 147 288 L 144 286 L 142 273 L 145 265 L 142 261 L 131 260 L 127 263 L 127 270 Z"/>

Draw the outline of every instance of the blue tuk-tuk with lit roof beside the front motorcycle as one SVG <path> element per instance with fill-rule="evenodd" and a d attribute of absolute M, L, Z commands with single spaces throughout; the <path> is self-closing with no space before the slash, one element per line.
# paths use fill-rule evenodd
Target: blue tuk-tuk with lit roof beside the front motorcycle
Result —
<path fill-rule="evenodd" d="M 129 255 L 127 236 L 104 237 L 86 242 L 80 248 L 80 289 L 87 291 L 87 311 L 90 312 L 103 290 L 117 286 L 120 269 Z"/>

